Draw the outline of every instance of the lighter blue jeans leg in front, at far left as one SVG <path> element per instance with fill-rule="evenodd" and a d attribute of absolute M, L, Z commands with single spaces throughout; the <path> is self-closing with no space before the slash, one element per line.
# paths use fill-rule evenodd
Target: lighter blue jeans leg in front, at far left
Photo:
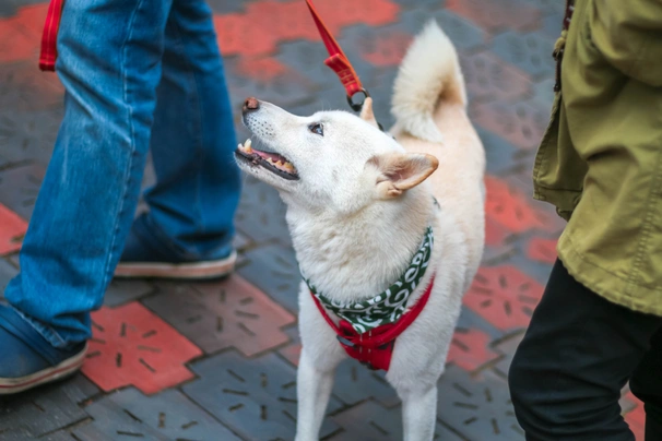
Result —
<path fill-rule="evenodd" d="M 135 211 L 170 0 L 67 0 L 64 119 L 7 300 L 56 347 L 90 337 Z"/>

